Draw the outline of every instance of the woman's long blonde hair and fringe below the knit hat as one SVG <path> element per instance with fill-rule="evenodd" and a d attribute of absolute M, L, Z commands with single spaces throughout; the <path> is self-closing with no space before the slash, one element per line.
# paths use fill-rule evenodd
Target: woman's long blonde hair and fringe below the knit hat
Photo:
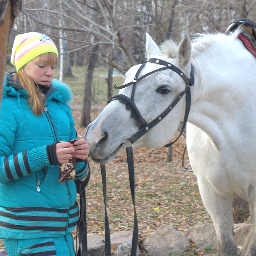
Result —
<path fill-rule="evenodd" d="M 39 63 L 41 59 L 43 59 L 46 65 L 51 65 L 55 67 L 58 63 L 57 55 L 53 52 L 46 52 L 38 57 L 36 57 L 36 63 Z M 14 80 L 18 78 L 20 85 L 28 92 L 28 96 L 30 97 L 28 100 L 28 104 L 32 106 L 32 112 L 37 115 L 44 114 L 44 97 L 39 90 L 38 84 L 25 72 L 23 72 L 22 68 L 14 75 Z"/>

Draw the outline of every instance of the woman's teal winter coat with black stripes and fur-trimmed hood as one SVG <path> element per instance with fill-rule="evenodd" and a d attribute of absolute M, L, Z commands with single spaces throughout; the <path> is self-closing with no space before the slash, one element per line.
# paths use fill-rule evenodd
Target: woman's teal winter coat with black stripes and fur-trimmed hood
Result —
<path fill-rule="evenodd" d="M 50 165 L 46 151 L 46 145 L 76 138 L 67 104 L 71 91 L 53 80 L 44 97 L 44 114 L 35 116 L 26 90 L 6 74 L 0 114 L 2 238 L 62 236 L 78 220 L 75 182 L 59 183 L 59 165 Z M 77 180 L 84 179 L 87 168 L 87 161 L 76 163 Z"/>

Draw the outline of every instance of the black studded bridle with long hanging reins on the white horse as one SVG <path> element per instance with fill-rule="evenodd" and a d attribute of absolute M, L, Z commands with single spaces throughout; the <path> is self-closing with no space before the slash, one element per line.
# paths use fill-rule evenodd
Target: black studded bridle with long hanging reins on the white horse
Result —
<path fill-rule="evenodd" d="M 139 77 L 140 71 L 142 70 L 142 68 L 145 67 L 147 62 L 163 65 L 164 67 L 158 68 L 156 70 L 153 70 L 153 71 Z M 147 60 L 147 62 L 141 64 L 141 66 L 138 69 L 138 71 L 136 72 L 136 75 L 132 82 L 115 87 L 116 89 L 122 89 L 127 86 L 133 85 L 131 98 L 125 96 L 124 94 L 116 94 L 111 98 L 111 100 L 119 100 L 119 101 L 123 102 L 126 105 L 126 108 L 132 111 L 131 116 L 133 118 L 136 118 L 137 125 L 139 126 L 139 131 L 136 132 L 131 138 L 127 138 L 131 141 L 131 143 L 133 145 L 133 143 L 135 141 L 137 141 L 141 136 L 143 136 L 152 127 L 154 127 L 156 124 L 158 124 L 165 116 L 167 116 L 168 113 L 173 109 L 173 107 L 179 102 L 179 100 L 182 98 L 182 96 L 184 94 L 186 94 L 186 107 L 185 107 L 185 115 L 184 115 L 182 128 L 180 130 L 180 134 L 179 134 L 178 138 L 176 138 L 174 141 L 172 141 L 172 143 L 165 145 L 165 147 L 169 147 L 180 138 L 180 135 L 184 131 L 187 120 L 188 120 L 188 114 L 189 114 L 190 105 L 191 105 L 190 86 L 194 85 L 194 82 L 195 82 L 194 69 L 193 69 L 193 66 L 191 65 L 190 78 L 188 79 L 188 77 L 179 68 L 177 68 L 176 66 L 172 65 L 171 63 L 169 63 L 167 61 L 151 58 L 151 59 Z M 145 78 L 157 71 L 161 71 L 161 70 L 165 70 L 165 69 L 171 69 L 174 72 L 176 72 L 179 76 L 181 76 L 186 84 L 186 88 L 176 96 L 176 98 L 172 101 L 172 103 L 159 116 L 157 116 L 153 121 L 147 123 L 145 121 L 145 119 L 143 118 L 143 116 L 140 114 L 139 109 L 136 107 L 136 105 L 134 103 L 134 94 L 135 94 L 135 90 L 136 90 L 136 85 L 137 85 L 137 82 L 139 82 L 143 78 Z M 125 141 L 123 144 L 125 144 Z M 136 252 L 137 252 L 137 247 L 138 247 L 138 220 L 137 220 L 137 214 L 136 214 L 136 208 L 135 208 L 133 152 L 132 152 L 132 146 L 125 147 L 125 148 L 126 148 L 126 154 L 127 154 L 130 188 L 131 188 L 132 202 L 133 202 L 133 209 L 134 209 L 134 225 L 133 225 L 131 256 L 135 256 Z M 105 255 L 111 256 L 111 243 L 110 243 L 109 222 L 108 222 L 108 214 L 107 214 L 107 192 L 106 192 L 107 187 L 106 187 L 105 165 L 100 164 L 100 169 L 101 169 L 103 196 L 104 196 L 104 204 L 105 204 Z"/>

